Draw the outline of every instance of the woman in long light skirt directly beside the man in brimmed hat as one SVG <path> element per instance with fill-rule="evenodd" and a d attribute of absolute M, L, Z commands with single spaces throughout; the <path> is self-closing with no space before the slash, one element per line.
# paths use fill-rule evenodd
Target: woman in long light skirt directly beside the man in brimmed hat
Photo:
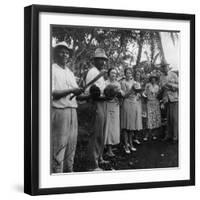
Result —
<path fill-rule="evenodd" d="M 108 70 L 108 80 L 106 86 L 113 86 L 118 93 L 122 93 L 121 85 L 116 80 L 117 71 L 114 68 Z M 107 119 L 105 128 L 105 145 L 107 146 L 107 155 L 109 157 L 115 156 L 112 151 L 112 146 L 120 143 L 120 114 L 119 114 L 119 100 L 117 97 L 108 100 L 107 105 Z"/>

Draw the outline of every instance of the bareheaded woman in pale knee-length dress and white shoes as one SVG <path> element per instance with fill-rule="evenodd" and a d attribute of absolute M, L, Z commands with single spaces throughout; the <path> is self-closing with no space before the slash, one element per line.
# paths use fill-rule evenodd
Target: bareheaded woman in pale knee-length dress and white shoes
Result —
<path fill-rule="evenodd" d="M 126 68 L 125 80 L 121 82 L 124 92 L 124 101 L 121 109 L 121 129 L 124 136 L 124 149 L 127 154 L 136 151 L 133 146 L 133 135 L 135 131 L 142 129 L 142 109 L 140 94 L 136 89 L 138 84 L 132 77 L 132 69 Z"/>

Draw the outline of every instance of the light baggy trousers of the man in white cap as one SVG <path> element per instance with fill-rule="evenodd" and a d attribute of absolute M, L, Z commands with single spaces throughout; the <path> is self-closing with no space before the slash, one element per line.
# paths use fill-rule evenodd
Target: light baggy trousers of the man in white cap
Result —
<path fill-rule="evenodd" d="M 52 108 L 51 172 L 73 171 L 78 122 L 75 108 Z"/>

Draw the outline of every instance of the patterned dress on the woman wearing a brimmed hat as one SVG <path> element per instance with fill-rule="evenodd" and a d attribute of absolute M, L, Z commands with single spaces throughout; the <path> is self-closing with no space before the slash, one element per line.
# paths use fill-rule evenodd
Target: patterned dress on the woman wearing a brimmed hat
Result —
<path fill-rule="evenodd" d="M 147 128 L 154 129 L 161 126 L 160 103 L 157 99 L 159 86 L 148 83 L 145 88 L 147 96 Z"/>

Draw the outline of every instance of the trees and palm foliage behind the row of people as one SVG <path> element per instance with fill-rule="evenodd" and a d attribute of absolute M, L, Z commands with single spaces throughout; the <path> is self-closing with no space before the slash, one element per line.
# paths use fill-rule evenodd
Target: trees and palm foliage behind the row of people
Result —
<path fill-rule="evenodd" d="M 171 43 L 176 45 L 178 32 L 165 32 Z M 70 67 L 77 77 L 85 77 L 91 66 L 91 58 L 97 47 L 108 56 L 107 68 L 115 67 L 123 75 L 125 67 L 140 69 L 143 75 L 151 73 L 166 63 L 162 32 L 156 30 L 134 30 L 99 27 L 52 27 L 52 43 L 65 41 L 72 49 Z M 166 37 L 166 36 L 165 36 Z"/>

